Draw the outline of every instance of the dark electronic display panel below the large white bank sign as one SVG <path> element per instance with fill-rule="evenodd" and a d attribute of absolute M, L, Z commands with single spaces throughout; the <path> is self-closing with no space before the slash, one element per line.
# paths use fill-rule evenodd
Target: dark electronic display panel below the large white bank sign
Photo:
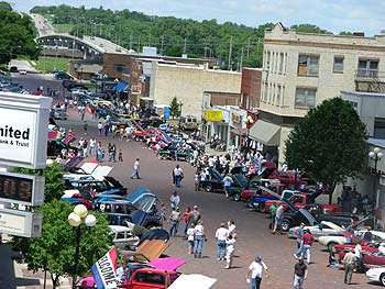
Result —
<path fill-rule="evenodd" d="M 0 173 L 0 202 L 36 207 L 44 201 L 44 177 Z"/>

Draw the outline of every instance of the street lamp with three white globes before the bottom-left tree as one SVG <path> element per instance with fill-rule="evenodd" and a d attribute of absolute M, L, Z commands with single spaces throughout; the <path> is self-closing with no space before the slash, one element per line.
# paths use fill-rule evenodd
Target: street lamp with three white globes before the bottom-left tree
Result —
<path fill-rule="evenodd" d="M 76 277 L 79 264 L 80 254 L 80 238 L 81 238 L 81 223 L 85 223 L 87 227 L 96 225 L 97 219 L 94 214 L 88 214 L 87 208 L 84 204 L 77 204 L 74 208 L 74 212 L 68 215 L 68 223 L 76 231 L 76 247 L 75 247 L 75 266 L 73 270 L 73 289 L 76 289 Z"/>

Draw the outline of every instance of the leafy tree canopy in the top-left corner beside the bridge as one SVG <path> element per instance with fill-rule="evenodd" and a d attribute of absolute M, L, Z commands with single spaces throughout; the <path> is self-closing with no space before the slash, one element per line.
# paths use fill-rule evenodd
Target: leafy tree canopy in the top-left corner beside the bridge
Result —
<path fill-rule="evenodd" d="M 26 14 L 0 9 L 0 64 L 19 55 L 37 58 L 40 49 L 34 41 L 34 25 Z"/>

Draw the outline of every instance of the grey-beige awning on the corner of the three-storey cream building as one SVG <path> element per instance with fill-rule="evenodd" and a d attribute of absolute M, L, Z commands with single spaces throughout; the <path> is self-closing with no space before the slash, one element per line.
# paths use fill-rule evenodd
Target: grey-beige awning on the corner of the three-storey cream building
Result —
<path fill-rule="evenodd" d="M 278 146 L 280 138 L 280 126 L 260 120 L 250 129 L 250 137 L 254 141 L 263 143 L 264 145 Z"/>

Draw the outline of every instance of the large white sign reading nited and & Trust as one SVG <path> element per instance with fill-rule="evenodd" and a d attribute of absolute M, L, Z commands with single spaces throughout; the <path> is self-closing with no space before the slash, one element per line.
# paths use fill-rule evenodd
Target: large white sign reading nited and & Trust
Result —
<path fill-rule="evenodd" d="M 51 98 L 0 92 L 0 165 L 44 168 Z"/>

